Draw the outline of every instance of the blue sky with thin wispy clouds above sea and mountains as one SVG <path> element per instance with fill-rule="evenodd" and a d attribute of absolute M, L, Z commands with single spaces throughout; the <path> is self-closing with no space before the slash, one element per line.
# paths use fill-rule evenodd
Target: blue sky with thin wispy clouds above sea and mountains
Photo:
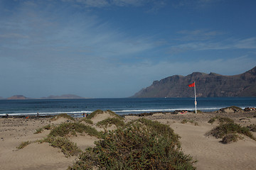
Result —
<path fill-rule="evenodd" d="M 0 96 L 123 98 L 256 66 L 255 0 L 0 0 Z"/>

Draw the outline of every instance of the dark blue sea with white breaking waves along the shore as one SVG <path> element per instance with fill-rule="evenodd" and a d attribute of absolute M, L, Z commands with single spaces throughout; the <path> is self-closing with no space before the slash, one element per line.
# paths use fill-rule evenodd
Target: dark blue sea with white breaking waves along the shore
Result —
<path fill-rule="evenodd" d="M 217 111 L 228 106 L 256 107 L 256 98 L 197 98 L 197 109 Z M 195 110 L 194 98 L 83 98 L 83 99 L 33 99 L 0 100 L 3 115 L 52 115 L 68 113 L 81 116 L 100 109 L 119 115 L 159 111 Z"/>

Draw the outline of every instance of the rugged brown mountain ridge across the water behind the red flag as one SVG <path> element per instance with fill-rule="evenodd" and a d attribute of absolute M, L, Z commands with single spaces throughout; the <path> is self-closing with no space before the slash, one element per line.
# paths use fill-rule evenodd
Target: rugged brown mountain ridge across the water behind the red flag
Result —
<path fill-rule="evenodd" d="M 215 73 L 193 72 L 186 77 L 172 76 L 154 81 L 133 98 L 193 97 L 194 91 L 188 84 L 196 81 L 198 97 L 256 96 L 256 67 L 234 76 Z"/>

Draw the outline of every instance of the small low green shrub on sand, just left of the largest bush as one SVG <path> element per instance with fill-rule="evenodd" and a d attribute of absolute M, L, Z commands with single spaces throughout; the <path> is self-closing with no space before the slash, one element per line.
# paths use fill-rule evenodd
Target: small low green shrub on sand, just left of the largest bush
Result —
<path fill-rule="evenodd" d="M 66 137 L 53 137 L 48 136 L 46 142 L 49 142 L 51 146 L 58 147 L 66 157 L 78 155 L 82 152 L 74 142 L 70 142 Z"/>

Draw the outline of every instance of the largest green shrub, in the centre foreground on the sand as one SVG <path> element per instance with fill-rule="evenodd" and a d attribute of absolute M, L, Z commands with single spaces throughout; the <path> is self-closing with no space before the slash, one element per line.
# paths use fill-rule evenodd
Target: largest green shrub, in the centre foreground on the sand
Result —
<path fill-rule="evenodd" d="M 168 125 L 139 119 L 107 132 L 69 169 L 196 169 Z"/>

